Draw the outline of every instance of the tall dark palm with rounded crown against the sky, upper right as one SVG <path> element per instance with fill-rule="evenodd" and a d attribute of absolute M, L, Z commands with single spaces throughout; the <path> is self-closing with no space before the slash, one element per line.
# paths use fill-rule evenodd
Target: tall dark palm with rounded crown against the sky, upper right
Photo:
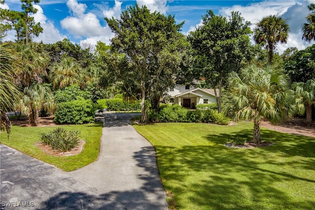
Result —
<path fill-rule="evenodd" d="M 256 24 L 254 40 L 268 50 L 269 63 L 272 63 L 277 43 L 286 43 L 288 33 L 289 25 L 282 17 L 275 15 L 264 17 Z"/>

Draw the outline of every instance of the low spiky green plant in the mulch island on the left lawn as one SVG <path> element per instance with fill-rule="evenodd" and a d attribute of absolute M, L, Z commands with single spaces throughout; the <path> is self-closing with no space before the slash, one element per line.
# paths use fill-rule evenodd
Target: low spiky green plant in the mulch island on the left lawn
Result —
<path fill-rule="evenodd" d="M 51 146 L 55 150 L 69 151 L 79 144 L 79 131 L 68 131 L 64 128 L 56 128 L 48 133 L 40 133 L 42 143 Z"/>

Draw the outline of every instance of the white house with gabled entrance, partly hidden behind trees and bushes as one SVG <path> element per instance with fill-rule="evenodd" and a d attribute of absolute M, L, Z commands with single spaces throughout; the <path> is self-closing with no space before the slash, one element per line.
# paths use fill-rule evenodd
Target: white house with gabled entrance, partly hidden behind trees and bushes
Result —
<path fill-rule="evenodd" d="M 194 88 L 193 86 L 176 85 L 168 89 L 171 103 L 179 104 L 185 108 L 195 108 L 197 104 L 216 103 L 214 89 Z"/>

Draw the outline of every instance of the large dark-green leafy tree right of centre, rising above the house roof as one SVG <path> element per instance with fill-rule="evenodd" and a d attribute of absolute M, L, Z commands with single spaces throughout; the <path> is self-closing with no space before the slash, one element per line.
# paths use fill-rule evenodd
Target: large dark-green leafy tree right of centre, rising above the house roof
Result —
<path fill-rule="evenodd" d="M 200 77 L 211 82 L 221 112 L 221 90 L 231 71 L 238 72 L 243 60 L 251 60 L 250 22 L 245 22 L 239 12 L 228 18 L 209 10 L 202 17 L 202 25 L 189 34 L 194 49 L 195 70 Z M 196 78 L 196 79 L 200 79 Z M 218 91 L 217 91 L 218 90 Z"/>

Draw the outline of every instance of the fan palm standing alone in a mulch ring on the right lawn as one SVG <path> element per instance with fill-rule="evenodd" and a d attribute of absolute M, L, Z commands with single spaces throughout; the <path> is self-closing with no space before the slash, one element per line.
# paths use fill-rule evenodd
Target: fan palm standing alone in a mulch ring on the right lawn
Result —
<path fill-rule="evenodd" d="M 229 89 L 223 95 L 223 112 L 234 120 L 253 120 L 253 142 L 261 143 L 260 121 L 277 122 L 283 115 L 292 116 L 294 106 L 288 101 L 288 77 L 272 66 L 262 68 L 254 64 L 241 69 L 240 76 L 232 72 Z"/>

